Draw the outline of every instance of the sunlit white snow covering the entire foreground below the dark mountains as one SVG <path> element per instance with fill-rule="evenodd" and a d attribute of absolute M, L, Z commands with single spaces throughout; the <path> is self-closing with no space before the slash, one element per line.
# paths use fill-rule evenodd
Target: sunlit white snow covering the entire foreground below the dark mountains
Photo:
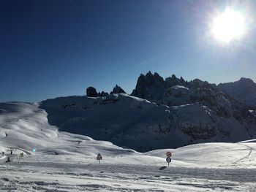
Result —
<path fill-rule="evenodd" d="M 59 131 L 39 104 L 0 109 L 0 191 L 256 191 L 255 140 L 138 153 Z"/>

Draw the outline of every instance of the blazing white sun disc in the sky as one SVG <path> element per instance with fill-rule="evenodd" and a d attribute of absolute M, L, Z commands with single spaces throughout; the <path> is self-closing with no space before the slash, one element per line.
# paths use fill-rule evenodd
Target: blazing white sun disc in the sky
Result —
<path fill-rule="evenodd" d="M 211 32 L 222 42 L 240 39 L 245 33 L 244 17 L 240 12 L 226 9 L 213 20 Z"/>

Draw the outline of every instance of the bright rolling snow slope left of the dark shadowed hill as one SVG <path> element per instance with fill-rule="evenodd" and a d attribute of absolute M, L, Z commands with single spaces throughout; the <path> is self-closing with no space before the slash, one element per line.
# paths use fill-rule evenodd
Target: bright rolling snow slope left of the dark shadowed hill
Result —
<path fill-rule="evenodd" d="M 94 141 L 83 135 L 69 134 L 50 126 L 47 113 L 39 109 L 39 104 L 20 102 L 0 103 L 0 152 L 10 153 L 13 147 L 25 154 L 46 155 L 88 155 L 127 154 L 134 150 L 124 150 L 110 142 Z"/>

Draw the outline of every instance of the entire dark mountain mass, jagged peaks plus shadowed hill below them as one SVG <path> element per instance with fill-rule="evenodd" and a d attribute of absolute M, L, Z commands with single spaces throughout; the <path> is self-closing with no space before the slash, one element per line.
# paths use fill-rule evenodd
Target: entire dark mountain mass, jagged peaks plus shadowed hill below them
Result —
<path fill-rule="evenodd" d="M 255 112 L 234 92 L 223 84 L 188 82 L 174 74 L 164 80 L 148 72 L 140 74 L 130 96 L 118 85 L 110 94 L 90 87 L 87 96 L 48 99 L 39 107 L 62 131 L 147 151 L 255 138 Z"/>

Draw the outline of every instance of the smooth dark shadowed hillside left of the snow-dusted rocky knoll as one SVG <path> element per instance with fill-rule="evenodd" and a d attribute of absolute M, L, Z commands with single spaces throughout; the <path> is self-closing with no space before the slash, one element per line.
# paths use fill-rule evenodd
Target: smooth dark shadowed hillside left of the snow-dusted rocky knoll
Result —
<path fill-rule="evenodd" d="M 48 113 L 49 123 L 61 131 L 107 140 L 138 151 L 172 146 L 168 144 L 170 135 L 165 133 L 170 125 L 169 108 L 124 93 L 48 99 L 42 101 L 40 108 Z M 181 145 L 178 143 L 177 146 Z"/>

